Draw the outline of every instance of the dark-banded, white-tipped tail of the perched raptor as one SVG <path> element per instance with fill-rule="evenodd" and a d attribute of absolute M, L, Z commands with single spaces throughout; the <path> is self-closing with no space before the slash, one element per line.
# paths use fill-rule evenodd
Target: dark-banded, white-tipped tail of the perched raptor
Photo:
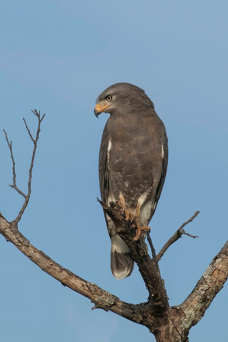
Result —
<path fill-rule="evenodd" d="M 131 275 L 134 261 L 125 242 L 114 232 L 111 234 L 111 271 L 117 279 Z"/>

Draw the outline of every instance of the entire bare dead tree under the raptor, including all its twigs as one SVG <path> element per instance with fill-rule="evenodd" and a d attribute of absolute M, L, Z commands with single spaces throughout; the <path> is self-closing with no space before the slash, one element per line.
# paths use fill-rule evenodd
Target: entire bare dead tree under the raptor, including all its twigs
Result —
<path fill-rule="evenodd" d="M 149 300 L 146 303 L 130 304 L 121 301 L 115 295 L 101 289 L 96 284 L 86 281 L 76 274 L 68 271 L 68 269 L 57 264 L 50 259 L 42 251 L 38 250 L 30 244 L 17 228 L 17 224 L 21 219 L 31 194 L 31 177 L 32 168 L 35 159 L 37 141 L 39 139 L 40 123 L 44 118 L 40 117 L 35 109 L 32 111 L 38 118 L 38 128 L 36 138 L 34 139 L 27 123 L 24 119 L 28 134 L 34 144 L 31 164 L 29 168 L 28 193 L 25 195 L 16 186 L 15 161 L 12 152 L 12 141 L 9 142 L 7 134 L 5 138 L 11 152 L 13 163 L 13 187 L 19 194 L 25 198 L 18 216 L 12 222 L 8 222 L 0 213 L 0 234 L 7 241 L 12 242 L 18 250 L 20 250 L 32 262 L 38 265 L 44 272 L 55 278 L 62 285 L 69 287 L 73 291 L 87 297 L 94 303 L 94 308 L 102 308 L 105 311 L 112 311 L 124 318 L 127 318 L 135 323 L 146 326 L 152 332 L 157 342 L 188 342 L 188 334 L 191 327 L 199 322 L 203 317 L 205 310 L 211 304 L 215 295 L 222 289 L 228 277 L 228 241 L 222 250 L 215 256 L 209 267 L 204 272 L 201 279 L 197 282 L 195 288 L 186 300 L 178 306 L 169 306 L 164 281 L 161 278 L 158 261 L 161 259 L 167 248 L 177 241 L 183 234 L 196 238 L 196 236 L 186 233 L 184 226 L 191 222 L 198 214 L 197 211 L 187 222 L 175 232 L 175 234 L 166 242 L 164 247 L 156 256 L 152 240 L 147 235 L 148 242 L 151 248 L 152 257 L 148 254 L 148 248 L 145 243 L 145 238 L 140 237 L 138 241 L 133 242 L 135 232 L 131 229 L 131 222 L 126 222 L 125 214 L 121 208 L 114 202 L 110 206 L 99 201 L 103 210 L 108 214 L 113 223 L 117 227 L 117 233 L 125 241 L 130 249 L 133 260 L 137 263 L 139 272 L 145 282 L 149 292 Z"/>

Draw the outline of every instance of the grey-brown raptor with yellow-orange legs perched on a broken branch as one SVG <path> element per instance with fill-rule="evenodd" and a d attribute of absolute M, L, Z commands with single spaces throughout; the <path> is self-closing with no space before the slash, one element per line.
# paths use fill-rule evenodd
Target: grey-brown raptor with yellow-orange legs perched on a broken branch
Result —
<path fill-rule="evenodd" d="M 155 213 L 165 180 L 168 139 L 163 122 L 145 91 L 116 83 L 97 98 L 94 114 L 110 113 L 99 152 L 102 201 L 118 202 L 126 220 L 135 218 L 137 240 Z M 105 213 L 111 238 L 111 271 L 117 279 L 131 275 L 134 261 Z"/>

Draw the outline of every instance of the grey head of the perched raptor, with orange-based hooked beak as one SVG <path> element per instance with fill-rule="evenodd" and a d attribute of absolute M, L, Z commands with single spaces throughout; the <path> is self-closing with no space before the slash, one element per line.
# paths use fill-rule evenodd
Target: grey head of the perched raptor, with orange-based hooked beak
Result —
<path fill-rule="evenodd" d="M 152 102 L 143 89 L 130 83 L 116 83 L 97 97 L 94 114 L 97 118 L 102 112 L 124 115 L 132 106 L 140 107 L 146 102 L 151 106 Z"/>

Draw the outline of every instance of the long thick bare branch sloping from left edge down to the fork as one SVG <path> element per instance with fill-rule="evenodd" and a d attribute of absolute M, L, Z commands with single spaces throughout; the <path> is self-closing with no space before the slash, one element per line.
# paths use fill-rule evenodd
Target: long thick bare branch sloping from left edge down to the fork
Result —
<path fill-rule="evenodd" d="M 51 277 L 57 279 L 62 285 L 69 287 L 73 291 L 82 294 L 95 304 L 94 308 L 102 308 L 105 311 L 112 311 L 122 317 L 125 317 L 133 322 L 149 326 L 149 320 L 143 317 L 144 305 L 129 304 L 119 300 L 115 295 L 101 289 L 96 284 L 86 281 L 76 274 L 68 271 L 68 269 L 57 264 L 50 259 L 42 251 L 32 246 L 29 241 L 17 230 L 14 223 L 9 223 L 0 213 L 0 233 L 16 246 L 23 254 L 26 255 L 32 262 L 38 265 L 44 272 Z"/>

